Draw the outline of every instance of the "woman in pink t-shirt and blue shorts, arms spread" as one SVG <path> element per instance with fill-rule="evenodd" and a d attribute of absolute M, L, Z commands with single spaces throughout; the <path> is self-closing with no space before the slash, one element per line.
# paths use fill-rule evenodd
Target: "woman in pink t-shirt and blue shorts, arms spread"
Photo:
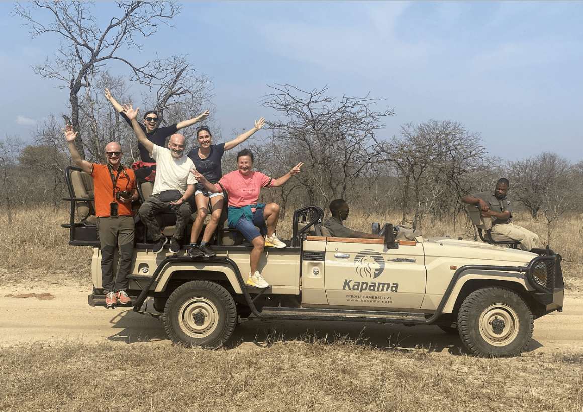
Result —
<path fill-rule="evenodd" d="M 265 246 L 283 248 L 286 244 L 275 236 L 275 228 L 279 221 L 279 205 L 277 203 L 258 204 L 259 193 L 262 187 L 283 186 L 291 176 L 300 173 L 303 163 L 298 163 L 279 179 L 273 179 L 264 173 L 252 171 L 253 161 L 254 156 L 251 150 L 241 150 L 237 154 L 237 170 L 221 177 L 217 184 L 210 183 L 196 169 L 192 169 L 191 172 L 206 190 L 213 193 L 224 190 L 229 194 L 229 228 L 239 230 L 245 239 L 253 244 L 250 256 L 251 273 L 247 284 L 268 287 L 269 283 L 258 271 L 263 250 Z M 259 228 L 267 226 L 265 237 L 261 236 L 255 226 Z"/>

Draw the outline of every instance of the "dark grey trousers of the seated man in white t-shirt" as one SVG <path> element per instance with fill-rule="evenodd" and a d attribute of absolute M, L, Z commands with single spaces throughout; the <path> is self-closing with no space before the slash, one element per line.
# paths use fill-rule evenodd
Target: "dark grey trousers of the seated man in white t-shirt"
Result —
<path fill-rule="evenodd" d="M 156 221 L 156 215 L 161 213 L 173 213 L 176 215 L 174 237 L 175 239 L 182 239 L 191 217 L 190 203 L 186 201 L 180 205 L 173 205 L 170 202 L 161 201 L 159 194 L 153 194 L 147 198 L 140 207 L 139 215 L 146 228 L 150 231 L 154 241 L 164 236 L 159 223 Z"/>

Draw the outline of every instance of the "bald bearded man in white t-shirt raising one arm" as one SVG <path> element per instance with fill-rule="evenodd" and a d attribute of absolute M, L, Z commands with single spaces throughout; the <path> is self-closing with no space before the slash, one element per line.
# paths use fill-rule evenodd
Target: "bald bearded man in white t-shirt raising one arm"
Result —
<path fill-rule="evenodd" d="M 137 116 L 138 109 L 132 109 L 131 105 L 124 106 L 124 113 L 132 122 L 134 133 L 138 137 L 150 155 L 156 159 L 156 181 L 152 195 L 140 207 L 140 219 L 154 240 L 153 253 L 160 253 L 168 241 L 162 233 L 156 215 L 161 213 L 174 213 L 176 215 L 176 229 L 170 239 L 170 252 L 177 254 L 180 251 L 180 239 L 191 216 L 191 205 L 187 201 L 194 193 L 194 185 L 198 183 L 190 173 L 194 168 L 192 159 L 184 155 L 186 147 L 182 134 L 173 134 L 168 141 L 168 148 L 161 147 L 148 140 L 140 127 Z"/>

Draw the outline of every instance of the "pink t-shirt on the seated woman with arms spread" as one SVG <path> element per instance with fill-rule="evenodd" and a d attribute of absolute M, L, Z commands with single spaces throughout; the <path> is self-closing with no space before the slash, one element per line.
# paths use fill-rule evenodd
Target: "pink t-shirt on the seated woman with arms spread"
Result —
<path fill-rule="evenodd" d="M 219 183 L 229 194 L 229 206 L 244 207 L 257 204 L 261 188 L 271 186 L 273 181 L 271 177 L 261 172 L 251 172 L 244 176 L 237 170 L 221 177 Z M 220 189 L 218 184 L 215 186 Z"/>

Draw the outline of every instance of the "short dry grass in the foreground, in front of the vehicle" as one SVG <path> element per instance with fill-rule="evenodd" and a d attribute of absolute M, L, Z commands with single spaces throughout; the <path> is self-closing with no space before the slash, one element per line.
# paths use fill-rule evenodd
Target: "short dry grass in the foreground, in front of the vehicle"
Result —
<path fill-rule="evenodd" d="M 480 359 L 342 338 L 217 351 L 64 343 L 0 354 L 3 411 L 580 412 L 582 387 L 581 354 Z"/>

